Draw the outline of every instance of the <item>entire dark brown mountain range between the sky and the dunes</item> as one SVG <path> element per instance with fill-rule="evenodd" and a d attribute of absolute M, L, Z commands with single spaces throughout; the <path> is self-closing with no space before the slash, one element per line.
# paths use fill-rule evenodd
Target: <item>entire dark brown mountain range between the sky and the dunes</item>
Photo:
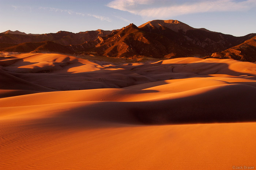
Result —
<path fill-rule="evenodd" d="M 0 34 L 0 51 L 58 52 L 109 57 L 205 57 L 256 62 L 256 34 L 236 37 L 193 28 L 178 20 L 153 20 L 118 30 L 49 34 L 6 31 Z M 240 52 L 239 52 L 240 51 Z"/>

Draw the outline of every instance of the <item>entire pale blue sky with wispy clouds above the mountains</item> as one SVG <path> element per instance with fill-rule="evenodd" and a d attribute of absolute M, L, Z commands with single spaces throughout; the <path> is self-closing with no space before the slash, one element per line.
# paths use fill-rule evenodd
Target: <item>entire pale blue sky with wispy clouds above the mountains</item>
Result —
<path fill-rule="evenodd" d="M 256 0 L 0 0 L 0 32 L 114 30 L 154 19 L 234 36 L 256 33 Z"/>

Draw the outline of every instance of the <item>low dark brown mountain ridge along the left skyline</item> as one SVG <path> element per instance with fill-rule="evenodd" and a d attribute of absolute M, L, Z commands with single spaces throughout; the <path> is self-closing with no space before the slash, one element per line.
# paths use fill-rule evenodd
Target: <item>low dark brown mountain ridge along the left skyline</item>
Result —
<path fill-rule="evenodd" d="M 14 31 L 15 32 L 15 31 Z M 73 33 L 68 31 L 59 31 L 56 33 L 31 35 L 31 34 L 0 34 L 0 43 L 20 44 L 25 42 L 53 41 L 61 45 L 78 45 L 86 41 L 92 41 L 98 36 L 105 36 L 112 31 L 96 30 Z"/>

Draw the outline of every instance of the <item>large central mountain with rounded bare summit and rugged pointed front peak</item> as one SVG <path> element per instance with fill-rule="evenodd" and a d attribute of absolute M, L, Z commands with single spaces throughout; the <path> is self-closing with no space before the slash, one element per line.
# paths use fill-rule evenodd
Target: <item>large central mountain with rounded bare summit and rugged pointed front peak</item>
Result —
<path fill-rule="evenodd" d="M 192 28 L 177 20 L 153 20 L 139 27 L 130 24 L 81 47 L 110 57 L 204 57 L 236 46 L 253 35 L 256 34 L 235 37 Z"/>

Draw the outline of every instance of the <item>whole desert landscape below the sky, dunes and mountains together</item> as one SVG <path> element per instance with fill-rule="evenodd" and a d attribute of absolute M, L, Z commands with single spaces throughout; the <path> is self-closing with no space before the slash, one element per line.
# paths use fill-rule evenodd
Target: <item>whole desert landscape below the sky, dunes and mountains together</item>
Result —
<path fill-rule="evenodd" d="M 9 30 L 0 51 L 0 169 L 256 169 L 255 33 Z"/>

